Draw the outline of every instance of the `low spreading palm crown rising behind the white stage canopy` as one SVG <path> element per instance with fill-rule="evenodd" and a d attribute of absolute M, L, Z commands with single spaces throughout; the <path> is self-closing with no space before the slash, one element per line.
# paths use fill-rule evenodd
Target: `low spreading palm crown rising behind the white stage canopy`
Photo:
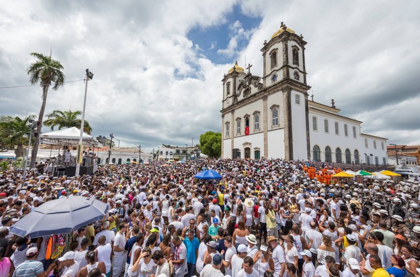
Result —
<path fill-rule="evenodd" d="M 72 112 L 71 110 L 55 110 L 46 115 L 48 119 L 44 121 L 44 126 L 50 127 L 51 131 L 54 130 L 55 126 L 58 126 L 58 130 L 70 127 L 77 127 L 80 129 L 80 126 L 82 125 L 82 120 L 77 118 L 80 115 L 82 115 L 82 111 Z M 92 128 L 90 128 L 89 122 L 87 122 L 87 120 L 84 120 L 83 131 L 84 133 L 89 135 L 92 132 Z"/>

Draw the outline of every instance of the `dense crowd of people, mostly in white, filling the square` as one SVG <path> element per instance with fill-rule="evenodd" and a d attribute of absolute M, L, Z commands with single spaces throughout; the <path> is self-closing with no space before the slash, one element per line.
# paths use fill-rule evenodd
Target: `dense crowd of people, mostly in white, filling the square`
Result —
<path fill-rule="evenodd" d="M 222 179 L 195 180 L 202 170 Z M 282 159 L 104 165 L 81 177 L 10 167 L 0 277 L 420 277 L 419 180 L 332 179 L 340 170 Z M 46 259 L 50 236 L 9 232 L 75 196 L 109 209 L 60 258 Z"/>

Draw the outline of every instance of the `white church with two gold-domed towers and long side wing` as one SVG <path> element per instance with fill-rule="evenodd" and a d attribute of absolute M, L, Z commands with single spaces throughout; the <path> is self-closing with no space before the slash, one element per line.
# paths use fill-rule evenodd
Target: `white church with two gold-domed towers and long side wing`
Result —
<path fill-rule="evenodd" d="M 261 48 L 263 76 L 236 63 L 223 77 L 222 158 L 387 164 L 386 140 L 308 99 L 303 37 L 283 22 Z"/>

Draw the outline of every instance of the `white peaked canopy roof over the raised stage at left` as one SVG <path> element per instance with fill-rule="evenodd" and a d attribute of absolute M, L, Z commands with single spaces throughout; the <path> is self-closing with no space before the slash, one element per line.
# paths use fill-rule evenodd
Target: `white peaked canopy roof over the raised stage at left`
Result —
<path fill-rule="evenodd" d="M 52 131 L 40 135 L 40 143 L 43 144 L 54 144 L 54 145 L 72 145 L 77 146 L 79 144 L 80 129 L 71 127 L 68 129 Z M 102 145 L 92 136 L 83 133 L 83 144 L 94 145 L 96 147 L 102 147 Z"/>

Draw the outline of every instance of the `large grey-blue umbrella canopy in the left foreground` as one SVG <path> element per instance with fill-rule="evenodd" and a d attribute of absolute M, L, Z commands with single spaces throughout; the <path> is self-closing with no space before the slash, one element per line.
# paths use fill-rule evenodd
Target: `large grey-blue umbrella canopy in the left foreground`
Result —
<path fill-rule="evenodd" d="M 70 233 L 103 219 L 108 205 L 94 198 L 62 197 L 43 203 L 10 227 L 10 232 L 31 237 Z"/>

